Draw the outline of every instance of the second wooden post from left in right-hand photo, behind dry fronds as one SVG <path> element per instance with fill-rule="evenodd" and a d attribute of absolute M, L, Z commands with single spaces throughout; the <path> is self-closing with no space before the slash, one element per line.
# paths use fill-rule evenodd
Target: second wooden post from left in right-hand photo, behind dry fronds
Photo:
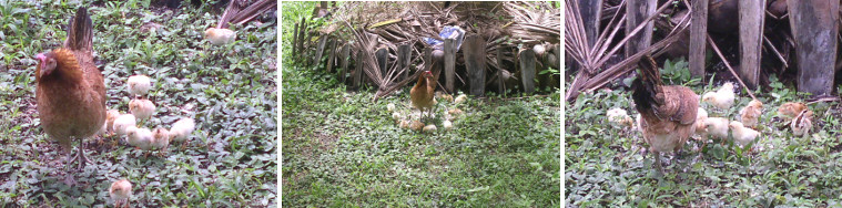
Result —
<path fill-rule="evenodd" d="M 656 11 L 657 0 L 628 0 L 626 6 L 626 33 L 631 33 L 635 28 L 643 22 Z M 597 17 L 599 18 L 599 17 Z M 648 22 L 642 31 L 638 32 L 626 42 L 626 56 L 629 58 L 652 44 L 652 22 Z M 597 35 L 594 35 L 595 38 Z M 590 38 L 590 37 L 589 37 Z M 590 39 L 588 39 L 590 41 Z M 523 62 L 521 62 L 523 63 Z"/>

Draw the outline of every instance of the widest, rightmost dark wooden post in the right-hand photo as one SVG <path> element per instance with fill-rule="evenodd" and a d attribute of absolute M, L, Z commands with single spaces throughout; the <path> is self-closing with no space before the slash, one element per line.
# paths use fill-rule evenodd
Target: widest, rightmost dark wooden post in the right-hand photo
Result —
<path fill-rule="evenodd" d="M 795 39 L 798 90 L 830 94 L 835 77 L 839 0 L 790 0 L 787 6 Z"/>

